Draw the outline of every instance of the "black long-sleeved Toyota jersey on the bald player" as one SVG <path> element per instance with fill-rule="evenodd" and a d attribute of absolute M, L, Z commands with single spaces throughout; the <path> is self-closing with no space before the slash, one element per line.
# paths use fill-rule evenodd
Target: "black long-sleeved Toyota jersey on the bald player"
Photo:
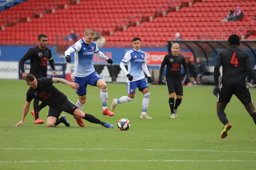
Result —
<path fill-rule="evenodd" d="M 189 77 L 188 66 L 184 55 L 178 54 L 178 56 L 174 56 L 172 53 L 164 56 L 159 75 L 162 77 L 164 66 L 166 65 L 166 78 L 181 80 L 181 64 L 184 67 L 186 75 Z"/>

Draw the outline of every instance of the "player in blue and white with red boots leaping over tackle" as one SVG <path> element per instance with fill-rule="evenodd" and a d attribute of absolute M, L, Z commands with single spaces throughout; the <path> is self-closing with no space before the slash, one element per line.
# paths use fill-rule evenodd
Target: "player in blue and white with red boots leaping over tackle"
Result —
<path fill-rule="evenodd" d="M 93 54 L 95 53 L 98 57 L 106 60 L 110 64 L 112 64 L 113 61 L 100 52 L 97 44 L 93 42 L 94 37 L 94 31 L 91 28 L 88 28 L 84 31 L 84 38 L 77 41 L 65 51 L 65 60 L 68 63 L 71 63 L 70 53 L 75 52 L 74 82 L 80 85 L 80 87 L 76 89 L 76 94 L 78 94 L 76 106 L 82 110 L 82 107 L 87 99 L 86 87 L 88 84 L 97 86 L 100 88 L 100 99 L 102 102 L 103 115 L 113 116 L 115 114 L 110 112 L 107 108 L 107 84 L 94 69 Z"/>

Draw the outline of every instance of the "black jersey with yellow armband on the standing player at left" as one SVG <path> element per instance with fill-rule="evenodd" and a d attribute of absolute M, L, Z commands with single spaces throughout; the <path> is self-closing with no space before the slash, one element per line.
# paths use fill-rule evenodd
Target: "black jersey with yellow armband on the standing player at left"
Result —
<path fill-rule="evenodd" d="M 24 62 L 30 60 L 30 71 L 29 74 L 33 74 L 36 78 L 47 77 L 47 62 L 54 68 L 54 62 L 52 59 L 52 51 L 50 48 L 45 48 L 44 50 L 40 49 L 38 46 L 34 48 L 29 48 L 27 53 L 20 59 L 20 70 L 21 72 L 25 72 L 24 70 Z"/>

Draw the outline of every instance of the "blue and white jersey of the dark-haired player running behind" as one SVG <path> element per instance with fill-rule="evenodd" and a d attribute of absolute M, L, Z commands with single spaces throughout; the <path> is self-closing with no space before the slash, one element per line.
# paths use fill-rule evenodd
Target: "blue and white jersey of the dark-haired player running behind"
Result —
<path fill-rule="evenodd" d="M 137 81 L 142 78 L 145 78 L 142 74 L 142 64 L 146 63 L 145 61 L 145 52 L 135 49 L 128 51 L 122 60 L 123 63 L 127 64 L 128 72 L 132 75 L 132 81 Z M 127 78 L 126 82 L 130 82 Z"/>

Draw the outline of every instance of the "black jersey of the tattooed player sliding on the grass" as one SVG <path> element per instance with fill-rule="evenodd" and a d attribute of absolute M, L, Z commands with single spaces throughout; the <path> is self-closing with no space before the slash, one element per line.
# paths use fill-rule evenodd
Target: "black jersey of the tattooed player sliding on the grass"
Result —
<path fill-rule="evenodd" d="M 50 107 L 59 107 L 67 96 L 52 85 L 52 78 L 37 79 L 37 88 L 29 88 L 27 92 L 27 102 L 34 98 L 39 99 Z"/>

